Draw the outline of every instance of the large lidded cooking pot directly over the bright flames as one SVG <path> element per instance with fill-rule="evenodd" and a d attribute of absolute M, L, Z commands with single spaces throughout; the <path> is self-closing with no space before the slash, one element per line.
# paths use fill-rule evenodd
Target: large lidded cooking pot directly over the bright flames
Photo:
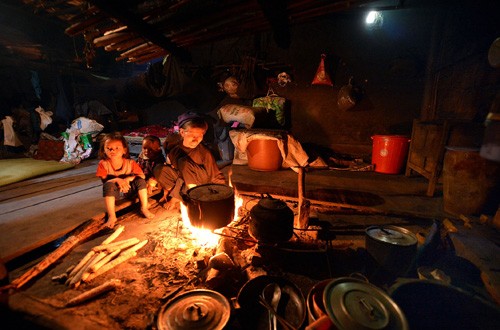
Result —
<path fill-rule="evenodd" d="M 189 189 L 184 197 L 191 225 L 217 229 L 227 226 L 234 218 L 232 187 L 209 183 Z"/>

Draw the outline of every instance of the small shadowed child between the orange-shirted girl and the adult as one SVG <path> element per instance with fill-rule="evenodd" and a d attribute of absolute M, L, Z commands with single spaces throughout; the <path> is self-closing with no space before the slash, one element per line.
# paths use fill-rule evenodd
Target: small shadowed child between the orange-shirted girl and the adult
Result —
<path fill-rule="evenodd" d="M 165 163 L 165 156 L 161 150 L 160 138 L 155 135 L 145 136 L 142 140 L 142 151 L 137 158 L 137 163 L 146 176 L 148 194 L 153 193 L 158 182 L 154 177 L 153 169 L 156 165 Z"/>

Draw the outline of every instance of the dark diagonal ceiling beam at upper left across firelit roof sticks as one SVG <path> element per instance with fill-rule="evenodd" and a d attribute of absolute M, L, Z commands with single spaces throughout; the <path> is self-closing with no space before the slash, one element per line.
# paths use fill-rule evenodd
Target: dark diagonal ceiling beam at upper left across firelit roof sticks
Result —
<path fill-rule="evenodd" d="M 182 60 L 191 59 L 191 55 L 188 51 L 180 48 L 177 44 L 173 43 L 170 39 L 156 30 L 153 26 L 143 21 L 142 18 L 138 18 L 132 12 L 128 11 L 124 6 L 123 1 L 90 0 L 90 2 L 110 17 L 113 17 L 120 21 L 122 24 L 127 25 L 131 30 L 156 44 L 158 47 L 163 48 L 170 54 Z"/>

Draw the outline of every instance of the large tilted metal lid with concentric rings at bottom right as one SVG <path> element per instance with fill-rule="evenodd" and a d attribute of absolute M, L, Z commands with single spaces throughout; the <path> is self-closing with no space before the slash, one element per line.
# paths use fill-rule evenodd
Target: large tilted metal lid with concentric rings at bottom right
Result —
<path fill-rule="evenodd" d="M 376 286 L 339 278 L 323 293 L 325 310 L 339 330 L 408 329 L 400 308 Z"/>

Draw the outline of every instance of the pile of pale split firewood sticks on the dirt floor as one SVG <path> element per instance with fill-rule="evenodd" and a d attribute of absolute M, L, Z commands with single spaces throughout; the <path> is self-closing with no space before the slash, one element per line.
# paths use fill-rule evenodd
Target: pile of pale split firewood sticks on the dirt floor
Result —
<path fill-rule="evenodd" d="M 123 226 L 118 226 L 113 234 L 100 245 L 93 247 L 76 266 L 68 268 L 65 273 L 59 276 L 54 276 L 52 280 L 64 281 L 66 285 L 77 288 L 82 282 L 90 282 L 97 276 L 136 256 L 137 251 L 144 247 L 148 240 L 140 241 L 137 238 L 129 238 L 113 242 L 123 230 Z"/>

